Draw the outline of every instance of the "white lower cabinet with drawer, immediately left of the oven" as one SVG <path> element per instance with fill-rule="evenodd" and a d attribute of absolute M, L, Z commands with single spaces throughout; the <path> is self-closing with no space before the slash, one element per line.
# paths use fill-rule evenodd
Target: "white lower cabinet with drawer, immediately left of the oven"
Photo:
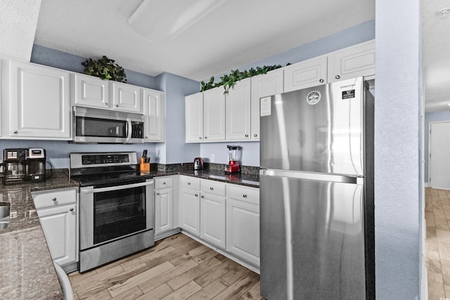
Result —
<path fill-rule="evenodd" d="M 77 192 L 75 188 L 33 193 L 34 206 L 53 261 L 78 261 Z"/>

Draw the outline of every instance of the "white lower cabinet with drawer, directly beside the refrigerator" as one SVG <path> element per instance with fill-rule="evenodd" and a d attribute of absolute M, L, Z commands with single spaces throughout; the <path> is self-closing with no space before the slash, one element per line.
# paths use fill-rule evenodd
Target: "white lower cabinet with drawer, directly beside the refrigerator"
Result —
<path fill-rule="evenodd" d="M 228 185 L 226 250 L 259 266 L 259 189 Z"/>

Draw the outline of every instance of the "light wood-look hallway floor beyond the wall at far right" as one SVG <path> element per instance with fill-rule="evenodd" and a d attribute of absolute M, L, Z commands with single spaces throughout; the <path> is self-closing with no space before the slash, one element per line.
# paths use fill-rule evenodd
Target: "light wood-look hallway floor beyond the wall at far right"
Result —
<path fill-rule="evenodd" d="M 450 190 L 425 189 L 428 299 L 450 298 Z"/>

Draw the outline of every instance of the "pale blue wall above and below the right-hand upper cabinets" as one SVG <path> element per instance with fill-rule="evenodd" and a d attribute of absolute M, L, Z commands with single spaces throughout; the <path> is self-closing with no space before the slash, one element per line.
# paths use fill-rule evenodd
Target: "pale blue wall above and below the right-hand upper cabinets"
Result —
<path fill-rule="evenodd" d="M 261 67 L 263 65 L 286 65 L 287 63 L 298 63 L 302 60 L 321 56 L 326 53 L 340 50 L 349 46 L 375 39 L 375 20 L 364 22 L 360 25 L 350 27 L 337 34 L 311 41 L 300 47 L 279 53 L 264 60 L 259 60 L 250 65 L 239 67 L 239 70 L 248 70 L 250 67 Z M 222 74 L 214 76 L 216 81 Z M 207 79 L 209 80 L 209 79 Z M 242 164 L 246 166 L 259 167 L 259 142 L 233 143 L 240 145 L 242 150 Z M 226 148 L 227 143 L 203 143 L 200 144 L 200 156 L 209 161 L 214 155 L 215 162 L 225 164 L 228 162 Z"/>

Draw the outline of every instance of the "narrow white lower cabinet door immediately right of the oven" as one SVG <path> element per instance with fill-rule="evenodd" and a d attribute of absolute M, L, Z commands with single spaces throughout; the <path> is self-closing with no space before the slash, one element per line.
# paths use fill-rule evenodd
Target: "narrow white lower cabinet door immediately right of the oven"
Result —
<path fill-rule="evenodd" d="M 155 191 L 155 234 L 174 229 L 172 188 Z"/>

